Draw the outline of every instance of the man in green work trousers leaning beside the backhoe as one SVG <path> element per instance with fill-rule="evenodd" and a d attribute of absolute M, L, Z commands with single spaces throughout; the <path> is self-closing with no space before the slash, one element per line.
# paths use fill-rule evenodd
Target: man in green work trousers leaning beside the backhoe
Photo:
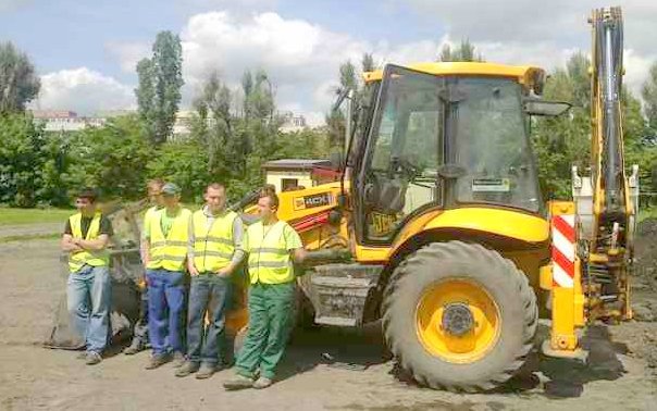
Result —
<path fill-rule="evenodd" d="M 293 262 L 307 256 L 301 238 L 278 221 L 278 197 L 263 190 L 258 200 L 261 220 L 248 227 L 244 248 L 249 254 L 249 325 L 237 357 L 237 375 L 224 388 L 266 388 L 285 351 L 294 325 L 296 279 Z M 258 379 L 256 374 L 259 372 Z"/>

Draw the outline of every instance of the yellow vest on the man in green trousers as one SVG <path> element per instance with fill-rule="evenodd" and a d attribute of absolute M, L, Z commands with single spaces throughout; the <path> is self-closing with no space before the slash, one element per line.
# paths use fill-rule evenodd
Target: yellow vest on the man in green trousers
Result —
<path fill-rule="evenodd" d="M 268 227 L 261 222 L 249 226 L 247 251 L 251 284 L 283 284 L 295 279 L 284 236 L 286 226 L 282 221 Z"/>

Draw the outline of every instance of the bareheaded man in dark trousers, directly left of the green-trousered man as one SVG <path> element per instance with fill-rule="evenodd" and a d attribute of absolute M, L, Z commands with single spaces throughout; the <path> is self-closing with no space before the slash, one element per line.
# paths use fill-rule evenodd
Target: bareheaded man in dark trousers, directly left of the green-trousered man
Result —
<path fill-rule="evenodd" d="M 231 275 L 245 257 L 243 224 L 226 210 L 226 189 L 213 183 L 206 188 L 206 205 L 189 225 L 187 269 L 191 275 L 187 315 L 187 361 L 175 373 L 209 378 L 223 364 L 225 309 Z M 208 314 L 209 324 L 204 320 Z"/>

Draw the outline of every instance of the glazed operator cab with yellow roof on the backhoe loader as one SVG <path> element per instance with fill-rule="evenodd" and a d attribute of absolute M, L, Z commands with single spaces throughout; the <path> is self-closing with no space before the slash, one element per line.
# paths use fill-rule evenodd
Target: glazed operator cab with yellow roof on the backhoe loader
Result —
<path fill-rule="evenodd" d="M 380 76 L 380 78 L 377 78 Z M 386 65 L 355 145 L 352 198 L 363 242 L 392 242 L 429 209 L 542 211 L 524 103 L 543 71 L 489 63 Z"/>

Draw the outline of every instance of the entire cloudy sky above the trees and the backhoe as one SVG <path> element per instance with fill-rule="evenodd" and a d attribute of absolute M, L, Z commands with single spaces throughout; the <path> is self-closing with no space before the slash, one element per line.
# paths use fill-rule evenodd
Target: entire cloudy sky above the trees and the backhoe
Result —
<path fill-rule="evenodd" d="M 619 3 L 619 1 L 617 1 Z M 183 105 L 218 70 L 236 87 L 264 68 L 278 107 L 317 124 L 334 99 L 337 68 L 373 52 L 380 63 L 434 60 L 468 37 L 487 61 L 561 66 L 588 52 L 591 0 L 0 0 L 0 41 L 26 51 L 42 77 L 35 108 L 135 107 L 136 62 L 156 34 L 181 35 Z M 627 84 L 637 91 L 657 61 L 657 1 L 620 1 Z"/>

